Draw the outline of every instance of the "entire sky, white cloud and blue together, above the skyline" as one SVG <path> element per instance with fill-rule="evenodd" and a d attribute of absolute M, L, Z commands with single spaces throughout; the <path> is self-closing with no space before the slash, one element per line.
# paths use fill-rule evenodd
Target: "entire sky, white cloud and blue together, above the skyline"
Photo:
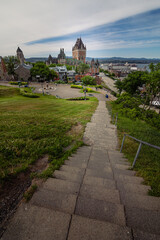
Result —
<path fill-rule="evenodd" d="M 0 0 L 0 56 L 160 58 L 160 0 Z"/>

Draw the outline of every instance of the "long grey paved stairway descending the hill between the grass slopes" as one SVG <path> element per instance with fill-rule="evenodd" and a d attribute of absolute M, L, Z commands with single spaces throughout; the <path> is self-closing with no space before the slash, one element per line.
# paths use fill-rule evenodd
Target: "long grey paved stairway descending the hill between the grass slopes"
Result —
<path fill-rule="evenodd" d="M 116 151 L 116 128 L 105 101 L 87 124 L 78 149 L 29 204 L 22 204 L 3 240 L 157 240 L 160 201 Z"/>

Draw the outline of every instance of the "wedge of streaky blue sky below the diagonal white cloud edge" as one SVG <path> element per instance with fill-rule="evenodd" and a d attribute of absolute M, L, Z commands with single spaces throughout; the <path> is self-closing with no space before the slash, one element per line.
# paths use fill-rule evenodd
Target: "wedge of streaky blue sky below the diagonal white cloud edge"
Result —
<path fill-rule="evenodd" d="M 95 44 L 88 49 L 88 57 L 150 57 L 160 58 L 160 9 L 136 14 L 108 24 L 83 31 L 42 38 L 27 42 L 26 45 L 75 41 L 81 37 L 84 44 Z M 88 44 L 87 44 L 88 43 Z M 71 56 L 71 51 L 67 51 Z"/>

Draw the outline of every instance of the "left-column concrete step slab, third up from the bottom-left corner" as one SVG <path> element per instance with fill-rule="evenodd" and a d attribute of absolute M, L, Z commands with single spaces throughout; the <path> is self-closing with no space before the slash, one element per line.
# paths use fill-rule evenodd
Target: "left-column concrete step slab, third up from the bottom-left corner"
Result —
<path fill-rule="evenodd" d="M 77 195 L 80 189 L 80 184 L 56 178 L 48 178 L 48 180 L 43 184 L 43 188 L 50 191 Z"/>

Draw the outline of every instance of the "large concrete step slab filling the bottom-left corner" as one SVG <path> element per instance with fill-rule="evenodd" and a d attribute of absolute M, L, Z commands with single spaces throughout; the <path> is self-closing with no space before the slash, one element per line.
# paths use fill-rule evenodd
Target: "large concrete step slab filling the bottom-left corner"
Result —
<path fill-rule="evenodd" d="M 62 240 L 67 238 L 71 216 L 51 209 L 22 204 L 2 240 Z"/>

